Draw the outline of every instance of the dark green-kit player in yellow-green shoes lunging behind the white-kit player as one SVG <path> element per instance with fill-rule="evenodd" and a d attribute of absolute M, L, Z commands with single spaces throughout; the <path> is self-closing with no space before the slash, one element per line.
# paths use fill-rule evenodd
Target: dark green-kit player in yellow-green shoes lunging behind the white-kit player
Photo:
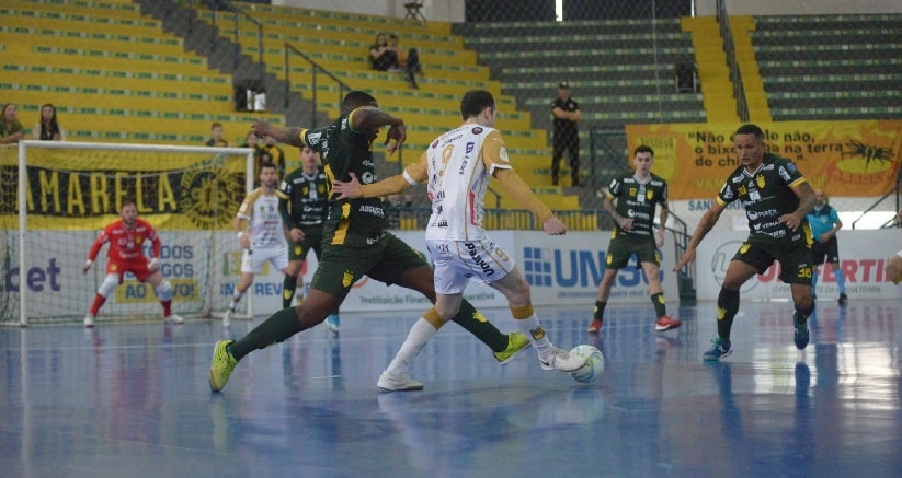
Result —
<path fill-rule="evenodd" d="M 254 130 L 260 136 L 272 135 L 286 144 L 309 147 L 320 153 L 327 171 L 338 172 L 338 179 L 349 180 L 349 173 L 357 177 L 375 177 L 373 142 L 384 126 L 389 127 L 386 152 L 393 154 L 407 138 L 404 121 L 380 109 L 370 94 L 355 90 L 344 96 L 341 116 L 330 125 L 313 129 L 275 128 L 265 121 L 256 121 Z M 221 390 L 235 366 L 249 353 L 324 320 L 339 310 L 351 287 L 364 275 L 386 284 L 414 290 L 430 302 L 435 301 L 433 269 L 422 254 L 385 230 L 381 200 L 330 198 L 322 261 L 313 273 L 307 298 L 295 307 L 271 315 L 238 340 L 218 341 L 210 360 L 210 389 Z M 437 320 L 437 316 L 434 307 L 423 314 L 433 320 Z M 519 331 L 501 334 L 466 300 L 454 322 L 489 346 L 502 364 L 530 346 Z M 409 389 L 416 389 L 412 378 L 407 378 Z"/>

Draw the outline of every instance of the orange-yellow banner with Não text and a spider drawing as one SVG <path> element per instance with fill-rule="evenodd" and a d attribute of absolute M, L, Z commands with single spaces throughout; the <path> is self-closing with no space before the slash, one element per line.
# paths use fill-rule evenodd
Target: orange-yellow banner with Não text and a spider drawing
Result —
<path fill-rule="evenodd" d="M 814 188 L 833 197 L 871 197 L 895 185 L 902 120 L 757 124 L 767 151 L 791 160 Z M 739 166 L 737 124 L 627 125 L 627 144 L 654 149 L 652 172 L 667 180 L 670 199 L 713 198 Z"/>

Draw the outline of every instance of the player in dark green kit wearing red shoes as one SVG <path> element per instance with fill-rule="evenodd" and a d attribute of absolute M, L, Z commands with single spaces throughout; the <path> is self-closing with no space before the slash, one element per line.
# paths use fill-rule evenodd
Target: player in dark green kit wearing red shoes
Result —
<path fill-rule="evenodd" d="M 597 334 L 602 329 L 605 306 L 610 296 L 610 288 L 617 278 L 617 271 L 626 267 L 633 255 L 649 281 L 649 294 L 658 316 L 654 329 L 664 331 L 682 325 L 680 320 L 667 315 L 661 287 L 661 255 L 658 248 L 664 245 L 664 224 L 667 222 L 669 214 L 667 182 L 651 172 L 653 163 L 654 150 L 644 144 L 636 148 L 632 159 L 632 167 L 636 172 L 615 177 L 605 195 L 604 208 L 617 225 L 610 235 L 605 273 L 598 283 L 595 312 L 589 325 L 589 331 L 592 334 Z M 617 199 L 616 207 L 614 199 Z M 655 241 L 652 230 L 654 229 L 654 210 L 658 205 L 661 206 L 661 217 Z"/>

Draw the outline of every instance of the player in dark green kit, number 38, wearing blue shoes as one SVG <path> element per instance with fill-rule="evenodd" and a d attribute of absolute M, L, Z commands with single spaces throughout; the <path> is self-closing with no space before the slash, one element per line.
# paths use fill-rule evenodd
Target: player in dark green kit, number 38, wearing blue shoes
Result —
<path fill-rule="evenodd" d="M 806 214 L 814 207 L 814 191 L 796 164 L 766 152 L 764 131 L 743 125 L 734 145 L 740 166 L 720 188 L 717 200 L 705 212 L 683 257 L 673 270 L 695 260 L 699 243 L 717 224 L 727 205 L 739 200 L 749 218 L 749 240 L 730 265 L 717 298 L 717 338 L 701 357 L 720 360 L 732 351 L 730 330 L 739 312 L 739 290 L 749 279 L 780 263 L 780 280 L 789 284 L 796 312 L 793 339 L 799 350 L 808 347 L 808 317 L 814 312 L 811 299 L 811 228 Z"/>

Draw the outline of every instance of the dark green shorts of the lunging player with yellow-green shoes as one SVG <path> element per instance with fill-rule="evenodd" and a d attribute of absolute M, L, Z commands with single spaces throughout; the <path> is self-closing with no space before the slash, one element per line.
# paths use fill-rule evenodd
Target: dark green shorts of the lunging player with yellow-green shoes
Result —
<path fill-rule="evenodd" d="M 423 255 L 389 233 L 368 246 L 324 244 L 310 288 L 344 299 L 364 275 L 391 285 L 419 267 L 429 267 Z"/>

